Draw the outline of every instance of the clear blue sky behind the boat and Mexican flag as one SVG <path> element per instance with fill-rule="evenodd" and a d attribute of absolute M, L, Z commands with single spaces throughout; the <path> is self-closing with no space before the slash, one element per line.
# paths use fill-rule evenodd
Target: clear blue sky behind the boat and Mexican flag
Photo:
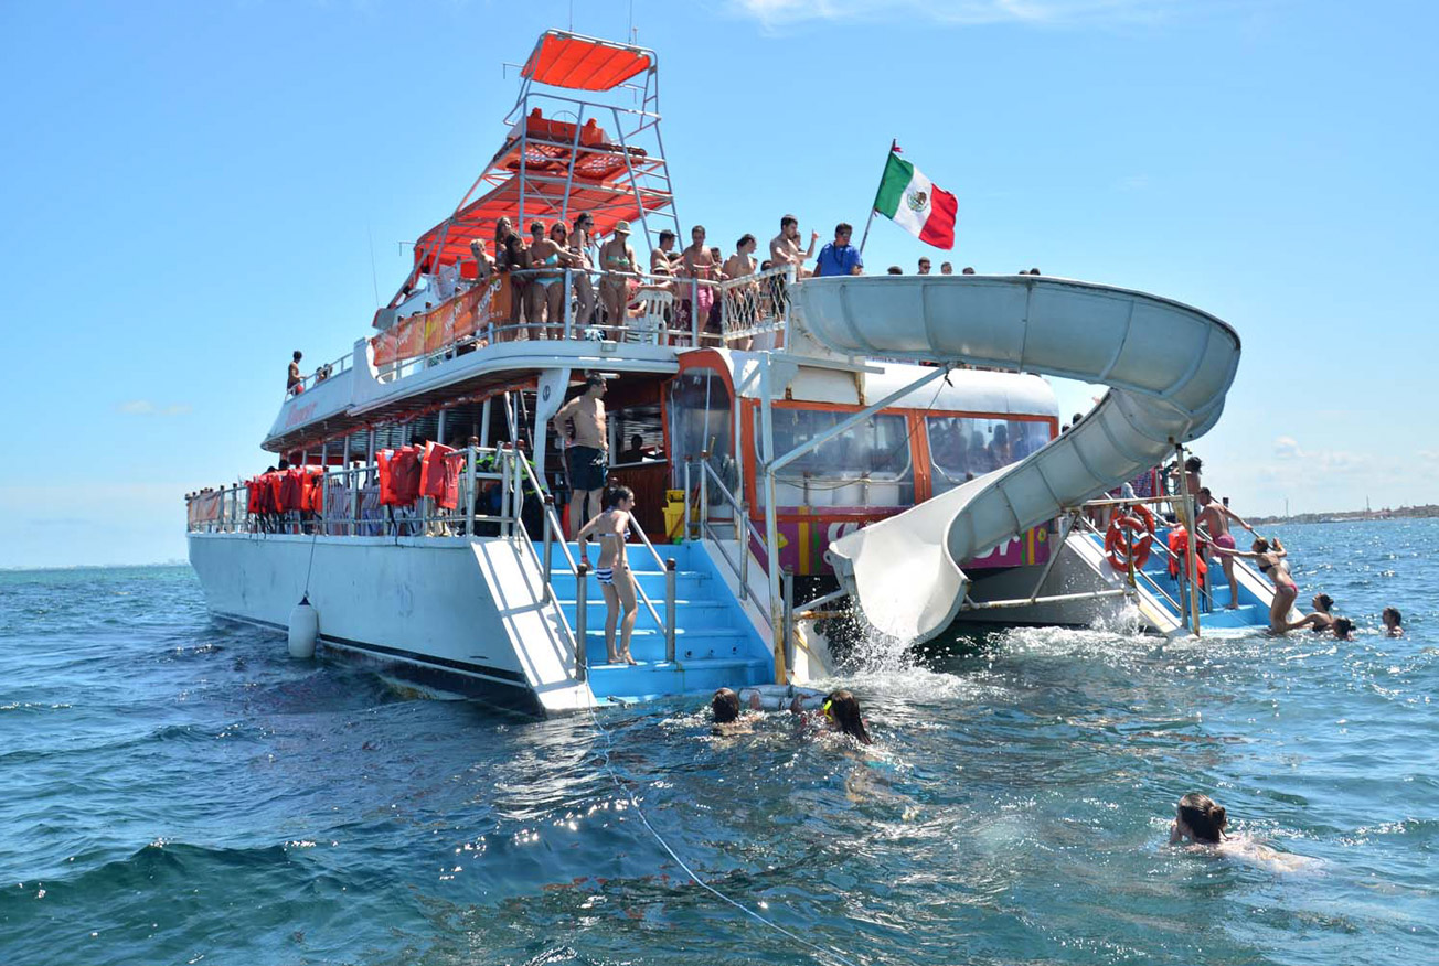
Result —
<path fill-rule="evenodd" d="M 623 37 L 625 0 L 573 6 L 576 30 Z M 822 234 L 862 223 L 898 138 L 958 196 L 957 264 L 1138 288 L 1238 328 L 1239 378 L 1197 446 L 1236 509 L 1439 502 L 1430 6 L 633 12 L 681 220 L 727 250 L 784 211 Z M 0 4 L 0 566 L 183 558 L 183 493 L 263 467 L 289 352 L 367 334 L 370 240 L 387 298 L 397 243 L 502 137 L 501 63 L 568 17 L 566 0 Z M 922 253 L 876 221 L 866 262 Z M 1062 390 L 1066 408 L 1088 394 Z"/>

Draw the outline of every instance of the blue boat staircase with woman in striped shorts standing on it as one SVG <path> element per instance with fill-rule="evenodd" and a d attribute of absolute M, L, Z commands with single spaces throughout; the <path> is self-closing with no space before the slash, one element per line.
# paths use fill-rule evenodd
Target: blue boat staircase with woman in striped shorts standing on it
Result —
<path fill-rule="evenodd" d="M 568 545 L 578 559 L 578 548 Z M 673 558 L 675 575 L 675 660 L 665 660 L 665 634 L 643 598 L 630 635 L 630 654 L 639 664 L 607 664 L 604 650 L 604 594 L 591 571 L 586 578 L 586 650 L 589 653 L 590 690 L 600 702 L 636 702 L 665 694 L 709 693 L 717 687 L 735 690 L 774 680 L 768 643 L 754 630 L 740 602 L 718 578 L 708 555 L 695 543 L 661 545 L 662 556 Z M 560 610 L 577 625 L 576 575 L 564 552 L 551 546 L 551 586 Z M 659 620 L 665 620 L 665 571 L 642 543 L 626 548 L 635 581 L 649 595 Z M 544 559 L 544 545 L 535 543 Z M 591 546 L 590 562 L 599 559 Z M 619 630 L 616 630 L 616 648 Z"/>

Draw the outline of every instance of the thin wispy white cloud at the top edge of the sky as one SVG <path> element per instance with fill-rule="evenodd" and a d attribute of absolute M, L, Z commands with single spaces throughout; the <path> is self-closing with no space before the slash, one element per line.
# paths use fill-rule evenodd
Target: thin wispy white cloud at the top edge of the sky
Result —
<path fill-rule="evenodd" d="M 955 26 L 1154 23 L 1180 0 L 731 0 L 766 27 L 807 20 L 924 20 Z"/>

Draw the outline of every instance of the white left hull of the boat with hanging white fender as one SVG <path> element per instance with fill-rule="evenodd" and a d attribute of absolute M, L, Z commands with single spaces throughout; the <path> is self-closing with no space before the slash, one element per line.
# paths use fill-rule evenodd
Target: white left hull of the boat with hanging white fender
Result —
<path fill-rule="evenodd" d="M 324 650 L 426 690 L 525 714 L 594 702 L 519 540 L 190 533 L 190 562 L 216 617 L 283 634 L 308 595 Z"/>

